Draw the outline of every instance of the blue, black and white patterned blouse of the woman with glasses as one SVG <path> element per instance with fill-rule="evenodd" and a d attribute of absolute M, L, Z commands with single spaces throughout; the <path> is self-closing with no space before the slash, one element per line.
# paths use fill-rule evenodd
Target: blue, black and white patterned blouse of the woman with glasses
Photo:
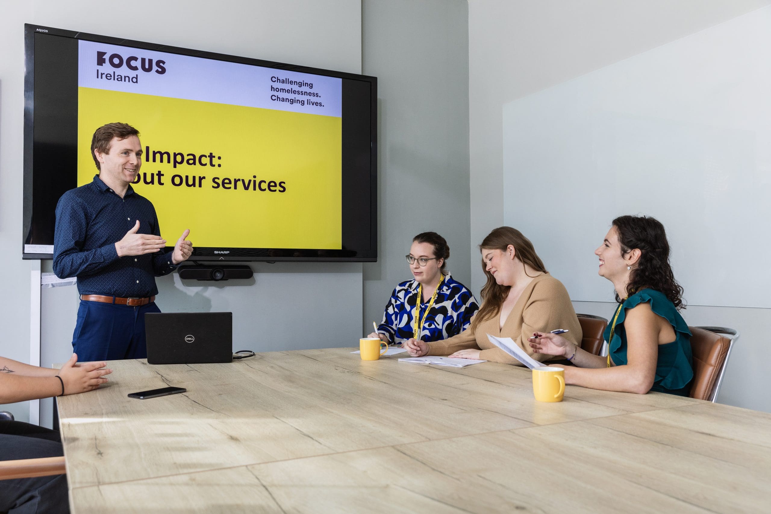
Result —
<path fill-rule="evenodd" d="M 402 282 L 393 290 L 385 306 L 383 321 L 378 327 L 378 332 L 386 334 L 391 344 L 402 344 L 413 336 L 415 321 L 412 318 L 415 315 L 418 286 L 415 279 Z M 419 314 L 421 318 L 427 306 L 428 302 L 421 302 Z M 471 291 L 446 274 L 442 285 L 439 286 L 436 300 L 423 323 L 420 339 L 426 342 L 439 341 L 460 334 L 469 328 L 471 317 L 479 308 Z"/>

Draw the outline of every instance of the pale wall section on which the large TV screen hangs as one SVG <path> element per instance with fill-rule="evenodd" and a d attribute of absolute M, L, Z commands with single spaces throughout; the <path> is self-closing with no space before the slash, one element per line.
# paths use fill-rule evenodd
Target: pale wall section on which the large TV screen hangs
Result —
<path fill-rule="evenodd" d="M 30 262 L 21 259 L 24 23 L 361 72 L 360 0 L 202 0 L 105 4 L 3 2 L 0 15 L 0 354 L 29 361 Z M 192 238 L 192 237 L 191 237 Z M 46 264 L 44 263 L 44 270 Z M 362 320 L 361 264 L 253 264 L 252 281 L 185 287 L 158 281 L 164 311 L 234 312 L 234 346 L 268 351 L 352 345 Z M 312 284 L 308 287 L 307 284 Z M 334 301 L 330 301 L 330 299 Z M 75 287 L 43 291 L 42 358 L 71 349 Z M 242 348 L 241 348 L 242 347 Z M 0 406 L 26 420 L 26 405 Z M 45 412 L 44 412 L 45 421 Z"/>

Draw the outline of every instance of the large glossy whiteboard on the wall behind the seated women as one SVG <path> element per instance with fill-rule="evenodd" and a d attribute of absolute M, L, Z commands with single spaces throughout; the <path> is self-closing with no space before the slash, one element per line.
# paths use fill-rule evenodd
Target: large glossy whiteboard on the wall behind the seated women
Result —
<path fill-rule="evenodd" d="M 697 305 L 771 307 L 771 7 L 503 106 L 503 209 L 575 301 L 593 252 L 658 218 Z"/>

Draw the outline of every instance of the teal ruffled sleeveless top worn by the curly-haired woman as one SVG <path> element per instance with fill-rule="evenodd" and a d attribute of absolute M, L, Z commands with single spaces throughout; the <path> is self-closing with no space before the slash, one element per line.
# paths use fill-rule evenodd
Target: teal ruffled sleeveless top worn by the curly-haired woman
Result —
<path fill-rule="evenodd" d="M 624 318 L 627 309 L 638 304 L 651 304 L 651 311 L 663 317 L 675 329 L 675 341 L 658 345 L 658 361 L 656 376 L 651 391 L 670 393 L 672 395 L 688 396 L 693 380 L 693 357 L 691 354 L 691 331 L 688 324 L 675 308 L 675 304 L 665 294 L 654 289 L 643 289 L 632 294 L 624 301 L 624 307 L 618 314 L 613 341 L 610 341 L 611 359 L 614 365 L 627 364 L 627 340 L 624 328 Z M 615 313 L 614 313 L 615 314 Z M 611 323 L 613 318 L 611 317 Z M 605 329 L 605 341 L 611 336 L 611 324 Z"/>

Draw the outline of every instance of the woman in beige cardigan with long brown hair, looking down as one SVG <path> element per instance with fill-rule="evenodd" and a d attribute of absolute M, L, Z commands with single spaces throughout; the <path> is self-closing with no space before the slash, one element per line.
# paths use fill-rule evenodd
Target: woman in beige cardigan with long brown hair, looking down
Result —
<path fill-rule="evenodd" d="M 487 284 L 482 288 L 482 307 L 470 327 L 453 338 L 426 343 L 410 339 L 403 345 L 412 357 L 449 355 L 520 365 L 497 348 L 491 334 L 512 338 L 530 357 L 547 361 L 554 355 L 534 353 L 527 338 L 534 332 L 567 329 L 564 337 L 581 346 L 581 324 L 564 285 L 548 274 L 533 244 L 511 227 L 498 227 L 480 244 L 482 269 Z"/>

